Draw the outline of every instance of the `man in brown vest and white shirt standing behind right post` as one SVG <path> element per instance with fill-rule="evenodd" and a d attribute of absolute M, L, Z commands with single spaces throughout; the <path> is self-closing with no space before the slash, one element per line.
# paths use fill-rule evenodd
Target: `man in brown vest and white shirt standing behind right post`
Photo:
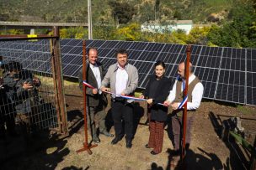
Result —
<path fill-rule="evenodd" d="M 184 88 L 185 88 L 185 63 L 179 64 L 178 78 L 175 80 L 173 89 L 168 95 L 168 99 L 164 101 L 165 106 L 171 106 L 173 112 L 171 115 L 171 126 L 172 126 L 172 142 L 174 152 L 179 154 L 180 147 L 180 131 L 182 126 L 182 114 L 183 108 L 179 109 L 179 105 L 184 98 Z M 188 89 L 188 119 L 187 119 L 187 132 L 186 132 L 186 143 L 190 142 L 190 132 L 192 122 L 194 120 L 195 109 L 200 106 L 200 102 L 203 97 L 204 86 L 200 80 L 193 74 L 192 64 L 189 63 L 189 89 Z"/>

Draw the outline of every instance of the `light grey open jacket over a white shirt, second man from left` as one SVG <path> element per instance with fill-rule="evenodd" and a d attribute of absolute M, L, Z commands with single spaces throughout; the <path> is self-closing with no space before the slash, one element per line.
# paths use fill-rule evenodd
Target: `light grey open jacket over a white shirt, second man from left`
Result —
<path fill-rule="evenodd" d="M 104 80 L 101 82 L 101 87 L 108 87 L 110 84 L 111 92 L 115 93 L 115 77 L 116 77 L 116 70 L 118 69 L 117 63 L 112 64 L 109 66 L 109 70 L 107 74 L 104 76 Z M 128 73 L 128 82 L 126 85 L 126 89 L 124 90 L 126 95 L 134 95 L 134 91 L 136 90 L 136 87 L 138 86 L 138 70 L 135 66 L 131 64 L 126 64 L 125 70 Z M 112 97 L 115 98 L 114 95 Z"/>

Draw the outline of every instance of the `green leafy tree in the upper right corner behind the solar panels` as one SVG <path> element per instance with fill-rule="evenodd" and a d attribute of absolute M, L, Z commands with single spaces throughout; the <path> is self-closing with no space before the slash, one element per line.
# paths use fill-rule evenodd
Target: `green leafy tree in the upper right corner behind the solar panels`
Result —
<path fill-rule="evenodd" d="M 246 3 L 244 3 L 246 1 Z M 211 28 L 208 39 L 211 44 L 218 46 L 255 48 L 255 8 L 253 0 L 237 0 L 237 5 L 229 13 L 231 22 L 224 23 L 222 27 Z"/>

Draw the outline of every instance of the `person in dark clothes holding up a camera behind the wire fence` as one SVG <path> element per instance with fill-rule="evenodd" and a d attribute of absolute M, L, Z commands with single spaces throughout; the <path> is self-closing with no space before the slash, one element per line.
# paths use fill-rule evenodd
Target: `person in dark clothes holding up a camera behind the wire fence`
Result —
<path fill-rule="evenodd" d="M 16 61 L 8 63 L 8 72 L 4 77 L 7 95 L 12 101 L 18 119 L 25 126 L 27 132 L 35 131 L 35 119 L 38 115 L 37 97 L 40 80 L 34 78 L 29 70 L 23 70 L 22 64 Z M 38 116 L 37 116 L 38 117 Z"/>

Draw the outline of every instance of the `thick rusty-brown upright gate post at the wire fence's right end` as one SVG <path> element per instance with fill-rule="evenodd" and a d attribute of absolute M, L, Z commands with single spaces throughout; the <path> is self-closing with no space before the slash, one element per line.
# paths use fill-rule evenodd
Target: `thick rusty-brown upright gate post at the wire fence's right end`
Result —
<path fill-rule="evenodd" d="M 56 112 L 58 117 L 58 123 L 61 133 L 64 137 L 68 135 L 67 131 L 67 111 L 65 106 L 64 97 L 64 85 L 61 67 L 61 44 L 60 44 L 60 33 L 59 27 L 53 27 L 54 36 L 56 39 L 51 39 L 52 49 L 51 49 L 51 64 L 52 64 L 52 76 L 53 84 L 55 87 L 55 100 L 56 100 Z M 61 75 L 61 76 L 57 76 Z"/>

